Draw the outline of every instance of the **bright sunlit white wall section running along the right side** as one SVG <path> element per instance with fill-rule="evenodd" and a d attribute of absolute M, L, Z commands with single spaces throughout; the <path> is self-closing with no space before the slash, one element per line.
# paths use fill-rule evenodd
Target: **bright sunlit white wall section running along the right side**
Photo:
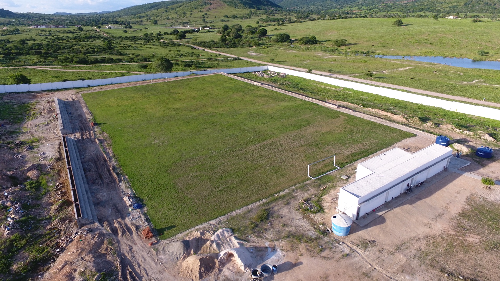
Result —
<path fill-rule="evenodd" d="M 404 92 L 404 91 L 400 91 L 400 90 L 377 87 L 377 86 L 373 86 L 373 85 L 365 85 L 365 84 L 361 84 L 361 83 L 357 83 L 357 82 L 345 81 L 345 80 L 340 80 L 340 79 L 336 79 L 336 78 L 325 77 L 325 76 L 321 76 L 321 75 L 317 75 L 317 74 L 306 73 L 306 72 L 301 72 L 301 71 L 296 71 L 296 70 L 291 70 L 291 69 L 286 69 L 286 68 L 281 68 L 281 67 L 275 67 L 275 66 L 270 66 L 270 65 L 268 66 L 268 69 L 272 70 L 272 71 L 276 71 L 276 72 L 284 72 L 286 74 L 293 75 L 293 76 L 299 76 L 299 77 L 306 78 L 309 80 L 327 83 L 330 85 L 351 88 L 351 89 L 355 89 L 355 90 L 359 90 L 359 91 L 364 91 L 364 92 L 379 94 L 379 95 L 383 95 L 383 96 L 387 96 L 387 97 L 391 97 L 391 98 L 396 98 L 399 100 L 440 107 L 442 109 L 446 109 L 446 110 L 450 110 L 450 111 L 486 117 L 486 118 L 490 118 L 490 119 L 494 119 L 494 120 L 500 120 L 500 110 L 495 109 L 495 108 L 472 105 L 472 104 L 467 104 L 467 103 L 461 103 L 461 102 L 457 102 L 457 101 L 449 101 L 449 100 L 429 97 L 429 96 L 425 96 L 425 95 Z"/>

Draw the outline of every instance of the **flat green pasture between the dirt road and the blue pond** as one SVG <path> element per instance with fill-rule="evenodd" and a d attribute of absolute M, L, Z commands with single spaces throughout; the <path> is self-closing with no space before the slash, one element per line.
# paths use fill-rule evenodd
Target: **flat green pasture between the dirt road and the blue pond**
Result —
<path fill-rule="evenodd" d="M 309 48 L 263 46 L 226 48 L 220 51 L 271 63 L 333 74 L 348 74 L 362 79 L 369 78 L 365 74 L 367 71 L 372 71 L 375 74 L 369 79 L 374 81 L 500 102 L 500 70 L 462 68 L 403 59 L 339 55 L 319 46 Z"/>

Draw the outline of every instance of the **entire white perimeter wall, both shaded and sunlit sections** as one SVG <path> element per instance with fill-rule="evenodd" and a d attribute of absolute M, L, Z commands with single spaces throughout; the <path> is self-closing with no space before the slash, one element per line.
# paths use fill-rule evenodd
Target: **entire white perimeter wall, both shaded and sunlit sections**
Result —
<path fill-rule="evenodd" d="M 449 101 L 394 89 L 388 89 L 383 87 L 377 87 L 373 85 L 366 85 L 352 81 L 344 81 L 332 77 L 325 77 L 317 74 L 306 73 L 281 67 L 275 67 L 270 65 L 262 66 L 252 66 L 252 67 L 238 67 L 238 68 L 224 68 L 224 69 L 210 69 L 210 70 L 197 70 L 197 71 L 180 71 L 180 72 L 168 72 L 168 73 L 151 73 L 151 74 L 139 74 L 130 76 L 120 76 L 107 79 L 93 79 L 93 80 L 77 80 L 77 81 L 65 81 L 65 82 L 52 82 L 52 83 L 39 83 L 39 84 L 20 84 L 20 85 L 0 85 L 0 93 L 3 92 L 25 92 L 25 91 L 39 91 L 39 90 L 54 90 L 54 89 L 64 89 L 64 88 L 74 88 L 74 87 L 91 87 L 100 86 L 107 84 L 117 84 L 117 83 L 127 83 L 127 82 L 137 82 L 150 79 L 160 79 L 160 78 L 173 78 L 175 76 L 182 77 L 190 74 L 212 74 L 224 72 L 230 73 L 241 73 L 241 72 L 252 72 L 252 71 L 262 71 L 262 70 L 272 70 L 276 72 L 284 72 L 289 75 L 299 76 L 306 79 L 319 81 L 327 83 L 330 85 L 351 88 L 359 91 L 369 92 L 373 94 L 379 94 L 382 96 L 387 96 L 399 100 L 409 101 L 413 103 L 419 103 L 429 106 L 440 107 L 442 109 L 486 117 L 494 120 L 500 120 L 500 110 L 490 107 L 472 105 L 467 103 L 461 103 L 457 101 Z"/>

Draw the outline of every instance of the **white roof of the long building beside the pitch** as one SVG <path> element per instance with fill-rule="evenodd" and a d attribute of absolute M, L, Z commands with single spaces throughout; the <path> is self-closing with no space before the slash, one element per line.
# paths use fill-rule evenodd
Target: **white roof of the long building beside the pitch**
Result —
<path fill-rule="evenodd" d="M 360 165 L 373 173 L 342 187 L 345 191 L 357 197 L 369 194 L 397 178 L 416 172 L 433 161 L 452 154 L 452 149 L 433 143 L 413 154 L 401 149 L 393 148 L 387 152 L 366 160 Z"/>

